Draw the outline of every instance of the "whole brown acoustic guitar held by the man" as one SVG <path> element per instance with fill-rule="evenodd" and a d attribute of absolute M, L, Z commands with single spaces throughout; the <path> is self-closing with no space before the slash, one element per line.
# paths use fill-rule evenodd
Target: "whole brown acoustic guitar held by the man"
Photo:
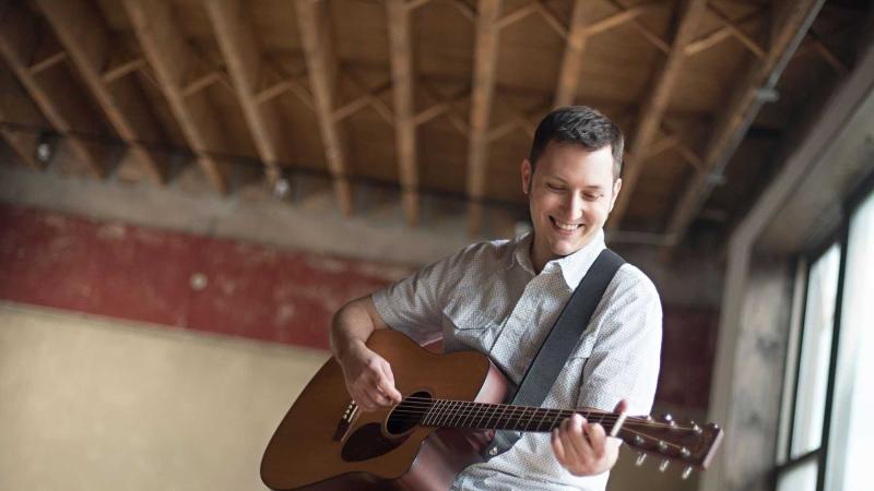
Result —
<path fill-rule="evenodd" d="M 361 410 L 332 358 L 283 418 L 261 460 L 261 479 L 274 490 L 447 490 L 494 430 L 547 432 L 581 414 L 607 434 L 642 452 L 686 466 L 707 467 L 722 439 L 716 424 L 681 424 L 605 411 L 500 404 L 507 383 L 476 351 L 438 355 L 403 334 L 374 332 L 367 346 L 392 368 L 403 400 Z M 666 464 L 664 464 L 666 465 Z"/>

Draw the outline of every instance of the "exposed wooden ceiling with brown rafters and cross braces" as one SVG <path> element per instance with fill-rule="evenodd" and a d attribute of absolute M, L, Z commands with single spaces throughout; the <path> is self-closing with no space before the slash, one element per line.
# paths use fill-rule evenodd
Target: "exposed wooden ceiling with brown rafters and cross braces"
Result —
<path fill-rule="evenodd" d="M 346 214 L 391 184 L 411 225 L 448 194 L 475 231 L 489 206 L 523 213 L 538 121 L 587 104 L 628 139 L 610 226 L 671 246 L 728 233 L 852 70 L 867 3 L 4 1 L 0 132 L 35 168 L 44 131 L 66 136 L 95 178 L 163 185 L 179 151 L 220 193 L 240 165 L 322 175 Z"/>

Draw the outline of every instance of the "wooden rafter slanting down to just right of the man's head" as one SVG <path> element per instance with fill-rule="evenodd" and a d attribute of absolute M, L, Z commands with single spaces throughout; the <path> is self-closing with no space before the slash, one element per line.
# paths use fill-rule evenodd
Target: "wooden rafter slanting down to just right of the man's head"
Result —
<path fill-rule="evenodd" d="M 623 171 L 622 192 L 611 214 L 611 228 L 618 226 L 628 209 L 635 187 L 646 165 L 647 148 L 657 136 L 668 104 L 671 101 L 674 85 L 683 73 L 686 45 L 693 40 L 706 12 L 707 0 L 689 0 L 681 13 L 671 52 L 654 76 L 652 88 L 643 99 L 640 115 L 637 118 L 637 128 L 633 133 L 634 140 L 630 142 L 628 151 L 630 158 L 625 163 Z"/>

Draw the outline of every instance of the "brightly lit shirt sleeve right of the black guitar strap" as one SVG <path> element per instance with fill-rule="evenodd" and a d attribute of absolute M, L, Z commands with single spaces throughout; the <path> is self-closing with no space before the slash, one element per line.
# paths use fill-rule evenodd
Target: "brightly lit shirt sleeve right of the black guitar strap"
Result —
<path fill-rule="evenodd" d="M 612 411 L 626 399 L 628 414 L 648 415 L 659 380 L 661 301 L 652 282 L 634 266 L 624 266 L 613 280 L 617 285 L 599 315 L 578 404 Z"/>

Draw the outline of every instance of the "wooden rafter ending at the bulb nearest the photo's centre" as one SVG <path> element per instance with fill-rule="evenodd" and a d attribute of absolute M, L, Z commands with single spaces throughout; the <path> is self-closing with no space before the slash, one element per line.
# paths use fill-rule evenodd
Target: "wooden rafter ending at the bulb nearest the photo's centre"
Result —
<path fill-rule="evenodd" d="M 243 115 L 255 141 L 258 156 L 267 166 L 268 180 L 273 183 L 281 176 L 280 163 L 287 161 L 291 149 L 282 144 L 280 115 L 274 105 L 259 104 L 259 74 L 263 60 L 258 39 L 252 31 L 247 9 L 239 0 L 205 1 L 206 13 L 215 31 L 218 48 Z"/>

